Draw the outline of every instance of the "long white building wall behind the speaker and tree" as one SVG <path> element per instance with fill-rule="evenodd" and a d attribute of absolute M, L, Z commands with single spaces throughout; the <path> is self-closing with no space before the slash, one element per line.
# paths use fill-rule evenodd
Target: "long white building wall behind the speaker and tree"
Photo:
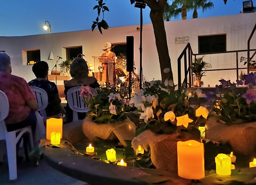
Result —
<path fill-rule="evenodd" d="M 247 49 L 247 40 L 256 23 L 256 13 L 197 18 L 179 21 L 165 22 L 169 55 L 172 61 L 174 82 L 178 83 L 177 59 L 186 44 L 175 44 L 175 37 L 188 37 L 194 54 L 198 53 L 198 36 L 227 34 L 227 51 Z M 55 56 L 63 57 L 66 60 L 65 47 L 82 46 L 84 59 L 93 63 L 93 56 L 101 56 L 105 42 L 125 43 L 126 36 L 134 36 L 134 60 L 135 65 L 139 65 L 140 59 L 140 32 L 136 29 L 139 25 L 110 28 L 103 30 L 101 35 L 98 30 L 92 32 L 77 31 L 66 33 L 54 33 L 44 35 L 22 36 L 22 37 L 0 37 L 0 50 L 5 50 L 11 57 L 14 75 L 22 76 L 27 82 L 35 78 L 32 66 L 23 63 L 22 50 L 40 49 L 41 60 L 48 62 L 49 69 L 54 66 L 54 60 L 48 60 L 50 51 Z M 256 33 L 254 33 L 250 48 L 256 49 Z M 155 44 L 155 37 L 152 24 L 144 24 L 142 32 L 142 68 L 146 80 L 151 81 L 161 79 L 158 54 Z M 252 55 L 252 51 L 251 51 Z M 247 57 L 246 52 L 240 53 Z M 255 59 L 255 57 L 254 57 Z M 61 59 L 58 63 L 61 63 Z M 211 63 L 211 69 L 236 68 L 236 54 L 206 55 L 206 62 Z M 243 67 L 242 64 L 239 64 Z M 57 70 L 59 66 L 57 65 Z M 182 69 L 182 72 L 184 69 Z M 182 81 L 184 78 L 184 72 Z M 202 77 L 204 86 L 208 84 L 215 86 L 219 84 L 220 78 L 236 81 L 236 71 L 208 71 Z"/>

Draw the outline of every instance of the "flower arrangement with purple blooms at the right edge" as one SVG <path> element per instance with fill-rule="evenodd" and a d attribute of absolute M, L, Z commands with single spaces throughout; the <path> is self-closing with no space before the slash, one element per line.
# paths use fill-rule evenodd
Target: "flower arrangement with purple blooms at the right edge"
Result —
<path fill-rule="evenodd" d="M 238 87 L 243 85 L 239 80 L 231 83 L 222 79 L 219 81 L 221 85 L 216 85 L 216 93 L 207 94 L 219 122 L 230 125 L 256 121 L 256 76 L 250 73 L 243 77 L 248 87 Z"/>

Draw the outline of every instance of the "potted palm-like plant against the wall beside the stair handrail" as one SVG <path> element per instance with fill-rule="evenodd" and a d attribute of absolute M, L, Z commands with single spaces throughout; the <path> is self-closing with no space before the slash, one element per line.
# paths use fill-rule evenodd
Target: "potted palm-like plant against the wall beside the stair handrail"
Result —
<path fill-rule="evenodd" d="M 203 61 L 203 57 L 195 58 L 192 62 L 192 72 L 196 76 L 196 81 L 194 82 L 195 87 L 203 86 L 203 82 L 201 81 L 202 76 L 205 76 L 203 70 L 211 68 L 211 64 Z"/>

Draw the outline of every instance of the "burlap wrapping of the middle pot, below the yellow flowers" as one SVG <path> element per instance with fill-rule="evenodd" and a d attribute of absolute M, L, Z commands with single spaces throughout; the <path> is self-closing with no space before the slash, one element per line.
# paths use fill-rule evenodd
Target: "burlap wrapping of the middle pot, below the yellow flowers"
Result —
<path fill-rule="evenodd" d="M 156 134 L 151 130 L 146 130 L 132 141 L 134 150 L 140 145 L 147 151 L 151 148 L 151 160 L 157 169 L 175 170 L 177 169 L 177 135 Z"/>

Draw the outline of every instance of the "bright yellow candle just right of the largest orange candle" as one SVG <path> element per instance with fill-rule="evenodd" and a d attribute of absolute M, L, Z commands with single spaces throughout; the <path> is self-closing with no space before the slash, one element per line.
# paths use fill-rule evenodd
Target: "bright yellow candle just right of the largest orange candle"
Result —
<path fill-rule="evenodd" d="M 219 153 L 215 157 L 217 175 L 231 175 L 231 158 L 226 154 Z"/>

